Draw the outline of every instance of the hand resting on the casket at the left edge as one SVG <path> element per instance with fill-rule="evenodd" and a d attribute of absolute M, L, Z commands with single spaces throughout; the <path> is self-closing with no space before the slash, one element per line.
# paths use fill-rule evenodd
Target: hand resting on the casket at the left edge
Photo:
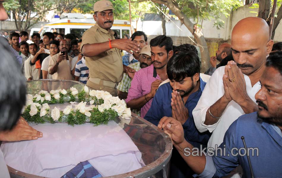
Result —
<path fill-rule="evenodd" d="M 20 117 L 15 127 L 10 131 L 0 133 L 0 141 L 21 141 L 21 140 L 36 140 L 42 137 L 42 132 L 39 132 L 28 125 L 23 117 Z"/>

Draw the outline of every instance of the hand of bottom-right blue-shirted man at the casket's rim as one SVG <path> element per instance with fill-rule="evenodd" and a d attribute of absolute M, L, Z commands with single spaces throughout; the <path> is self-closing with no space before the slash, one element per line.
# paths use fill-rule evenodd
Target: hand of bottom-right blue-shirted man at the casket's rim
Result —
<path fill-rule="evenodd" d="M 172 117 L 165 116 L 161 118 L 158 128 L 164 130 L 164 133 L 172 139 L 174 145 L 181 144 L 185 141 L 182 124 Z"/>

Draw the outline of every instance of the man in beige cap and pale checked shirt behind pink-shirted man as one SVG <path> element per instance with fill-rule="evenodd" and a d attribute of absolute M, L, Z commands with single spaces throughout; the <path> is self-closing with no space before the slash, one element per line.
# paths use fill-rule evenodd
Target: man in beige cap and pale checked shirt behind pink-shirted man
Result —
<path fill-rule="evenodd" d="M 148 67 L 152 64 L 151 61 L 151 48 L 150 45 L 146 45 L 142 48 L 142 50 L 139 53 L 139 62 L 135 62 L 132 64 L 129 64 L 128 66 L 136 71 L 139 71 L 140 69 L 143 69 L 145 67 Z M 121 99 L 126 99 L 128 94 L 128 89 L 131 86 L 131 78 L 123 74 L 123 78 L 121 82 L 118 83 L 118 97 Z M 135 112 L 134 112 L 135 111 Z M 133 109 L 132 112 L 140 115 L 140 109 Z"/>

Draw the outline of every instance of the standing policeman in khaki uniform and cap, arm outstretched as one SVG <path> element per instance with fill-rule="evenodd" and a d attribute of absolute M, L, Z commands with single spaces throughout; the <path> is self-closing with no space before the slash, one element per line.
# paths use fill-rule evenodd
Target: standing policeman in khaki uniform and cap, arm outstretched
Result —
<path fill-rule="evenodd" d="M 115 39 L 110 29 L 114 21 L 113 10 L 110 1 L 101 0 L 94 4 L 93 18 L 96 24 L 84 32 L 80 48 L 89 68 L 86 85 L 117 96 L 115 87 L 121 81 L 123 72 L 134 71 L 123 66 L 120 50 L 132 53 L 131 50 L 138 52 L 140 49 L 131 39 Z"/>

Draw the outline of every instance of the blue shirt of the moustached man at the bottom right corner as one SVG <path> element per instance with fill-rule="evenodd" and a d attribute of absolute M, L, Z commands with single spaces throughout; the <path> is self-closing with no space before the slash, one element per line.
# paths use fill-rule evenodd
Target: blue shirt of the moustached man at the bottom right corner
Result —
<path fill-rule="evenodd" d="M 251 177 L 251 171 L 247 156 L 244 155 L 243 141 L 245 137 L 246 147 L 257 148 L 249 150 L 249 157 L 254 172 L 254 177 L 281 177 L 282 170 L 282 134 L 281 130 L 269 123 L 265 123 L 257 116 L 256 112 L 240 116 L 235 120 L 224 135 L 220 148 L 226 148 L 225 155 L 207 156 L 205 170 L 199 177 L 223 177 L 239 164 L 243 168 L 243 177 Z M 232 148 L 235 156 L 231 154 Z M 219 153 L 220 151 L 218 151 Z M 254 153 L 254 156 L 252 155 Z M 229 156 L 228 156 L 229 154 Z"/>

